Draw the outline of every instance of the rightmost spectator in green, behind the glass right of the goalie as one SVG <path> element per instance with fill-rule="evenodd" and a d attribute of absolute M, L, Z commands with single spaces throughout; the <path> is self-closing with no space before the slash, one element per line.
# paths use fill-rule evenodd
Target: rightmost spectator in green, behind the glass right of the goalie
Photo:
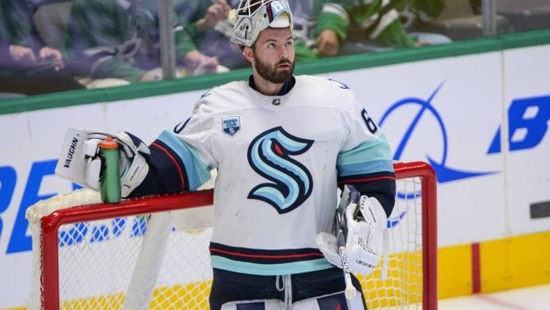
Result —
<path fill-rule="evenodd" d="M 345 0 L 352 20 L 350 39 L 361 43 L 347 44 L 345 53 L 388 50 L 393 47 L 418 47 L 451 40 L 440 34 L 408 33 L 416 20 L 437 17 L 444 0 Z M 405 22 L 405 24 L 403 24 Z"/>

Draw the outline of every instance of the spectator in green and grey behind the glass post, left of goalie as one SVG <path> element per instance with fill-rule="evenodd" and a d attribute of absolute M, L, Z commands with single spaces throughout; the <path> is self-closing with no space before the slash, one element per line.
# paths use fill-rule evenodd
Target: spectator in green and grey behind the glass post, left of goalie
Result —
<path fill-rule="evenodd" d="M 184 1 L 175 0 L 174 6 Z M 216 72 L 218 61 L 200 53 L 177 22 L 174 36 L 177 65 L 186 68 L 188 75 L 198 70 Z M 129 82 L 160 80 L 158 0 L 74 0 L 64 52 L 75 75 Z"/>

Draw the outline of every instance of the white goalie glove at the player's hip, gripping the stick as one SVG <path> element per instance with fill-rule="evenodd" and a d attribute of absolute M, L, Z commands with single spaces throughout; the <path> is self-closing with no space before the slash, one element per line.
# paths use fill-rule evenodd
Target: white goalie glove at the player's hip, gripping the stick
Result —
<path fill-rule="evenodd" d="M 355 191 L 355 189 L 352 186 L 345 186 L 344 191 Z M 345 235 L 345 252 L 350 270 L 367 275 L 373 272 L 380 262 L 382 232 L 386 227 L 387 217 L 376 198 L 362 195 L 358 200 L 347 200 L 343 193 L 341 199 L 343 206 L 340 210 L 343 213 L 341 229 Z M 320 232 L 315 236 L 315 242 L 329 263 L 341 268 L 342 263 L 335 236 L 337 233 Z"/>

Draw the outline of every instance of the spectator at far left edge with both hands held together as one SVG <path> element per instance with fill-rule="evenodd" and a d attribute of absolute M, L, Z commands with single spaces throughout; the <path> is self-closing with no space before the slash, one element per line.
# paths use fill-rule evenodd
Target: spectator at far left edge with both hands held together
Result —
<path fill-rule="evenodd" d="M 34 95 L 82 89 L 64 65 L 61 52 L 40 40 L 27 1 L 0 1 L 0 92 Z"/>

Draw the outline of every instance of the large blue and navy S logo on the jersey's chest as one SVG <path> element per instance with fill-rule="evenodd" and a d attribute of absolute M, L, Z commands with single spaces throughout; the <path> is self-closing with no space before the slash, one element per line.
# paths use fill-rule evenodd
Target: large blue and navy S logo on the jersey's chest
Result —
<path fill-rule="evenodd" d="M 311 195 L 313 179 L 307 168 L 290 155 L 304 154 L 313 140 L 297 138 L 282 127 L 265 131 L 248 147 L 248 163 L 255 172 L 273 183 L 255 186 L 248 199 L 272 205 L 279 214 L 292 211 Z"/>

